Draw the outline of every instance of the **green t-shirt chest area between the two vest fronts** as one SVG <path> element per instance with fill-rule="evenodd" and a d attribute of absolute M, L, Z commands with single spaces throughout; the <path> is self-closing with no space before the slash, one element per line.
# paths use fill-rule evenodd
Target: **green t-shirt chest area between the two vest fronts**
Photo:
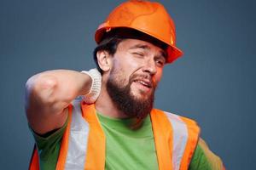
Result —
<path fill-rule="evenodd" d="M 158 169 L 150 116 L 137 129 L 131 128 L 132 119 L 97 116 L 107 139 L 106 170 Z"/>

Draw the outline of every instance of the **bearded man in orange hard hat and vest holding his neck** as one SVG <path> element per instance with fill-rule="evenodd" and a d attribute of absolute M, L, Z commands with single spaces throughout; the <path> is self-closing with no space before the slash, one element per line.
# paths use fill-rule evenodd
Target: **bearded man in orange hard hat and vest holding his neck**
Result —
<path fill-rule="evenodd" d="M 30 169 L 224 169 L 194 121 L 153 108 L 163 67 L 182 55 L 166 9 L 122 3 L 95 37 L 98 71 L 45 71 L 26 82 Z"/>

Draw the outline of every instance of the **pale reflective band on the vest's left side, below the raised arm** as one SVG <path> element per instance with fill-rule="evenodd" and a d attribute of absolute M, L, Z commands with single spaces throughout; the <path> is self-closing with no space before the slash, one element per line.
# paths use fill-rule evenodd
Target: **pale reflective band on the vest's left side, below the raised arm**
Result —
<path fill-rule="evenodd" d="M 74 100 L 65 170 L 84 170 L 88 135 L 89 125 L 82 116 L 80 101 Z"/>

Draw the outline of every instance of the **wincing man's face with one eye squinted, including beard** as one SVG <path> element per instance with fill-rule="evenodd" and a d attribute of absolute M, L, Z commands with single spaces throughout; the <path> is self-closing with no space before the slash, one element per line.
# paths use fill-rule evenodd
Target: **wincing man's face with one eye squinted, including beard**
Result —
<path fill-rule="evenodd" d="M 112 56 L 107 90 L 113 103 L 129 117 L 144 118 L 153 108 L 154 90 L 166 62 L 152 43 L 125 39 Z"/>

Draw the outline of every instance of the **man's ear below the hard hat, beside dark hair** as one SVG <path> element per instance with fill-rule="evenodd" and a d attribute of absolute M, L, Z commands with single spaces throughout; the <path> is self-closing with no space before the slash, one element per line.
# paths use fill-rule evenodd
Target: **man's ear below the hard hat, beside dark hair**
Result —
<path fill-rule="evenodd" d="M 98 65 L 102 71 L 109 71 L 112 65 L 112 56 L 106 50 L 97 51 Z"/>

